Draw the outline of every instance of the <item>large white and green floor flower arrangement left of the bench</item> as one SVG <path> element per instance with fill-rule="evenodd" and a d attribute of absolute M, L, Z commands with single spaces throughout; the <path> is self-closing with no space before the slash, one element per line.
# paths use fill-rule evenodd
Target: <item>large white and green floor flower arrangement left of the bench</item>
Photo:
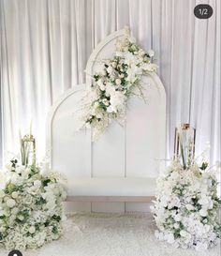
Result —
<path fill-rule="evenodd" d="M 7 249 L 38 248 L 62 233 L 66 191 L 61 176 L 41 171 L 12 160 L 0 173 L 0 245 Z"/>

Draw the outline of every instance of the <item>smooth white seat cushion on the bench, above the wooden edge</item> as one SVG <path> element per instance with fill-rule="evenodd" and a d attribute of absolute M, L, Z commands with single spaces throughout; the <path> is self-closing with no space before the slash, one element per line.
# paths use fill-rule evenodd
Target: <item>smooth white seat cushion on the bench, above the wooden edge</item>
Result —
<path fill-rule="evenodd" d="M 154 196 L 155 178 L 74 178 L 68 180 L 69 196 Z"/>

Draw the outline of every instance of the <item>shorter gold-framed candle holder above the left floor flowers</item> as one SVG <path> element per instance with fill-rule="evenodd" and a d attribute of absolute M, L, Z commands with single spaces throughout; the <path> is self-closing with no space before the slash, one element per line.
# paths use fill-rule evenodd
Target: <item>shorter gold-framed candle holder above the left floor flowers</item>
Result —
<path fill-rule="evenodd" d="M 22 165 L 27 166 L 30 162 L 36 165 L 36 139 L 32 134 L 24 135 L 21 138 L 21 157 Z M 31 161 L 30 157 L 32 157 Z"/>

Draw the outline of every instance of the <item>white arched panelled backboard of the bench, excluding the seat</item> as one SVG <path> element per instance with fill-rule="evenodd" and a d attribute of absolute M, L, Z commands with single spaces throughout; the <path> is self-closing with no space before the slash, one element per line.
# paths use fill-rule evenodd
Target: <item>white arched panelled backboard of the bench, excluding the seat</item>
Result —
<path fill-rule="evenodd" d="M 128 100 L 124 127 L 112 122 L 96 143 L 91 142 L 89 129 L 77 131 L 81 122 L 76 110 L 85 86 L 91 85 L 90 74 L 101 67 L 97 60 L 113 55 L 116 38 L 123 35 L 124 30 L 120 30 L 97 45 L 88 60 L 86 85 L 67 91 L 48 116 L 47 152 L 52 168 L 66 174 L 70 196 L 74 193 L 71 182 L 75 178 L 151 178 L 157 177 L 165 165 L 166 96 L 155 73 L 142 79 L 147 103 L 140 98 Z M 88 211 L 147 210 L 147 203 L 72 203 L 72 206 L 72 210 Z"/>

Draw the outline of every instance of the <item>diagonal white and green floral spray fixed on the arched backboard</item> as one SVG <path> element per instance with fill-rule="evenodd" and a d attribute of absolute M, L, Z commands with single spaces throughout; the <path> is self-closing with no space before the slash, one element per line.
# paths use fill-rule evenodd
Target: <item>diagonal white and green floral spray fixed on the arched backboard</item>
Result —
<path fill-rule="evenodd" d="M 103 60 L 101 72 L 93 75 L 93 84 L 87 94 L 81 120 L 83 127 L 93 128 L 96 141 L 109 127 L 111 119 L 119 124 L 125 121 L 126 100 L 131 96 L 144 98 L 141 76 L 155 72 L 154 52 L 145 53 L 125 28 L 125 36 L 116 41 L 116 52 Z"/>

